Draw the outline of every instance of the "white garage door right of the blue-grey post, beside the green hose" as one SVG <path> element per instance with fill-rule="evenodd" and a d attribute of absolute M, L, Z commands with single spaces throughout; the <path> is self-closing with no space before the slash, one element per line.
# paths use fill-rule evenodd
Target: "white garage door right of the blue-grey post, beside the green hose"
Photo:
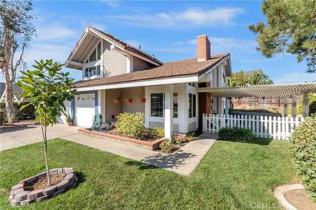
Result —
<path fill-rule="evenodd" d="M 75 96 L 75 125 L 81 127 L 91 127 L 95 114 L 94 94 L 81 94 Z"/>

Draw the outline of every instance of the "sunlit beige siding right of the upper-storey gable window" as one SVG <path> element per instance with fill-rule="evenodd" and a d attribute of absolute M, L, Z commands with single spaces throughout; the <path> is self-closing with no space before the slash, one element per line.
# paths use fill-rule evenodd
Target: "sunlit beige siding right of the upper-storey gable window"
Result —
<path fill-rule="evenodd" d="M 103 76 L 126 73 L 126 56 L 111 50 L 111 43 L 103 42 Z"/>

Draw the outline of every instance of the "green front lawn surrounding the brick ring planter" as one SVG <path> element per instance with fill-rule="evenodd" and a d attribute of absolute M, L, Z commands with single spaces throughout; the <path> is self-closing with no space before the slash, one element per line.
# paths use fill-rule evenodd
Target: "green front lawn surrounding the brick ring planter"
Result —
<path fill-rule="evenodd" d="M 273 204 L 276 185 L 295 178 L 288 142 L 218 140 L 189 177 L 71 141 L 48 143 L 50 168 L 73 167 L 79 184 L 53 199 L 18 209 L 252 209 Z M 42 143 L 0 157 L 0 209 L 11 209 L 10 188 L 45 171 Z M 12 208 L 13 209 L 13 208 Z"/>

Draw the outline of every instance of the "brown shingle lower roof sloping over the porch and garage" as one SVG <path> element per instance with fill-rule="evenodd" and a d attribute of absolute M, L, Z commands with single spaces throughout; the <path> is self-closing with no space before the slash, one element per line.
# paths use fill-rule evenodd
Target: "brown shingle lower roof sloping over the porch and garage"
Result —
<path fill-rule="evenodd" d="M 207 70 L 210 70 L 215 65 L 229 57 L 229 53 L 213 55 L 210 60 L 197 62 L 197 59 L 189 59 L 183 61 L 175 61 L 170 63 L 165 63 L 162 66 L 154 67 L 146 70 L 134 71 L 130 73 L 108 76 L 100 79 L 92 79 L 86 81 L 75 82 L 77 88 L 79 87 L 89 87 L 107 84 L 117 84 L 125 82 L 135 82 L 140 80 L 151 80 L 151 79 L 161 79 L 170 78 L 174 76 L 189 76 L 189 75 L 201 75 Z"/>

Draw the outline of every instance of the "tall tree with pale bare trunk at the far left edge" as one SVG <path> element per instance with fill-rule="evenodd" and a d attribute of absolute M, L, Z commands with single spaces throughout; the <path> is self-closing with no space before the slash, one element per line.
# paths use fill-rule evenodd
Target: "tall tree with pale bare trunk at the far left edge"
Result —
<path fill-rule="evenodd" d="M 5 109 L 9 123 L 17 121 L 13 108 L 12 83 L 17 68 L 25 66 L 23 54 L 35 34 L 35 27 L 30 23 L 33 16 L 28 14 L 31 10 L 32 3 L 28 0 L 1 0 L 0 3 L 0 69 L 4 75 Z"/>

